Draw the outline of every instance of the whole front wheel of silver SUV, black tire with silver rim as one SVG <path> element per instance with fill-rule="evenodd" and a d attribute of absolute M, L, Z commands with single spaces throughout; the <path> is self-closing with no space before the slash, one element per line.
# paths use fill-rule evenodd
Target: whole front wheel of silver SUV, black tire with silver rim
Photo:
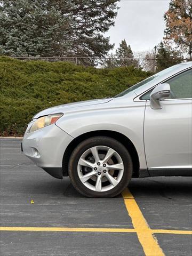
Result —
<path fill-rule="evenodd" d="M 70 156 L 68 170 L 71 183 L 83 196 L 114 197 L 129 184 L 133 164 L 122 143 L 97 136 L 79 143 Z"/>

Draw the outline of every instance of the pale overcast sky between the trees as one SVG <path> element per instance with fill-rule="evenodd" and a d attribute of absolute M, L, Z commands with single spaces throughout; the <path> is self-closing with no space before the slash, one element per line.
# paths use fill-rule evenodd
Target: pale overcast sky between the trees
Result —
<path fill-rule="evenodd" d="M 161 42 L 165 29 L 163 15 L 169 0 L 121 0 L 115 26 L 107 35 L 110 43 L 119 46 L 122 39 L 131 45 L 132 51 L 153 49 Z"/>

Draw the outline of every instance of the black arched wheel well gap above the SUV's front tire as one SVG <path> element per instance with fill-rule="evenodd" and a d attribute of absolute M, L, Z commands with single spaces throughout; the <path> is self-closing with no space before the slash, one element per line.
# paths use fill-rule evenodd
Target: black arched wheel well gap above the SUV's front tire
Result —
<path fill-rule="evenodd" d="M 87 132 L 82 135 L 79 135 L 77 138 L 75 138 L 73 141 L 70 142 L 70 144 L 68 145 L 65 151 L 65 154 L 63 155 L 63 161 L 62 161 L 63 176 L 68 176 L 68 163 L 69 163 L 70 155 L 73 152 L 73 150 L 82 141 L 95 136 L 106 136 L 121 142 L 131 155 L 132 162 L 133 162 L 133 178 L 139 177 L 139 157 L 138 157 L 137 150 L 135 149 L 131 140 L 119 132 L 107 131 L 107 130 Z"/>

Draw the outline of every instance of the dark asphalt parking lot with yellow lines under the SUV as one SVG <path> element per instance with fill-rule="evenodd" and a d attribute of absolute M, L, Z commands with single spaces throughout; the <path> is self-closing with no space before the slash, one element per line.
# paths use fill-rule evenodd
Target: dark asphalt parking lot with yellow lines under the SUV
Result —
<path fill-rule="evenodd" d="M 0 255 L 192 255 L 190 177 L 132 179 L 115 198 L 85 198 L 1 143 Z"/>

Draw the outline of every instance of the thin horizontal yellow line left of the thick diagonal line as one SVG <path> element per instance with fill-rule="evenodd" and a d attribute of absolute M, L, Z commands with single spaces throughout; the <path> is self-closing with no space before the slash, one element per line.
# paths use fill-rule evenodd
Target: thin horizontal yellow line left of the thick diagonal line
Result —
<path fill-rule="evenodd" d="M 67 227 L 0 227 L 0 231 L 58 231 L 58 232 L 108 232 L 135 233 L 133 228 L 67 228 Z"/>

